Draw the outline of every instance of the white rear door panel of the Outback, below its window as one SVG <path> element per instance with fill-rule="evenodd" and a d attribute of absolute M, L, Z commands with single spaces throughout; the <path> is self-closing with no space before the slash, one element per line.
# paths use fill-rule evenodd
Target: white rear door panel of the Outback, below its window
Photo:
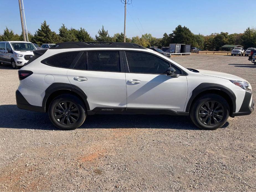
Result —
<path fill-rule="evenodd" d="M 124 72 L 86 71 L 69 69 L 69 82 L 84 90 L 90 109 L 96 107 L 125 107 L 126 86 Z M 75 77 L 84 77 L 85 81 L 76 81 Z"/>

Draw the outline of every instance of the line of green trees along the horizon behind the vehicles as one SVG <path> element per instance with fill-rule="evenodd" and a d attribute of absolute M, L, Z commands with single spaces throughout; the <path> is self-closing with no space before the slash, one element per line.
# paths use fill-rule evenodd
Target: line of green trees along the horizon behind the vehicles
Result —
<path fill-rule="evenodd" d="M 79 29 L 68 29 L 64 24 L 59 28 L 59 34 L 57 34 L 50 29 L 46 21 L 41 24 L 35 34 L 28 33 L 28 37 L 30 42 L 37 43 L 38 45 L 67 41 L 123 42 L 124 40 L 123 32 L 110 36 L 108 30 L 104 29 L 104 26 L 98 30 L 94 38 L 82 27 Z M 4 33 L 0 35 L 0 41 L 23 41 L 23 36 L 14 34 L 12 30 L 6 27 Z M 242 45 L 244 48 L 249 48 L 256 47 L 256 28 L 248 27 L 244 33 L 229 34 L 227 32 L 221 32 L 204 36 L 193 34 L 188 27 L 178 25 L 169 35 L 164 33 L 162 38 L 152 37 L 150 33 L 145 33 L 141 37 L 126 37 L 126 42 L 136 43 L 144 47 L 157 46 L 158 48 L 169 46 L 170 43 L 184 43 L 191 45 L 191 47 L 209 51 L 219 51 L 221 46 L 226 44 Z"/>

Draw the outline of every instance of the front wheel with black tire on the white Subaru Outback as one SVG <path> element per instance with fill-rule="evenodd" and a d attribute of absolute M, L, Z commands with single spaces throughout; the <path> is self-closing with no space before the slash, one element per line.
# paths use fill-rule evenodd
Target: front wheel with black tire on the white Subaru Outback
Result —
<path fill-rule="evenodd" d="M 205 103 L 208 103 L 208 108 L 205 105 Z M 220 107 L 218 107 L 219 105 Z M 207 109 L 207 110 L 200 110 L 200 109 Z M 218 112 L 218 111 L 222 111 L 222 112 Z M 197 98 L 193 102 L 189 115 L 192 122 L 198 128 L 217 129 L 226 123 L 229 117 L 229 105 L 227 101 L 220 95 L 205 94 Z M 203 123 L 203 121 L 205 122 Z"/>

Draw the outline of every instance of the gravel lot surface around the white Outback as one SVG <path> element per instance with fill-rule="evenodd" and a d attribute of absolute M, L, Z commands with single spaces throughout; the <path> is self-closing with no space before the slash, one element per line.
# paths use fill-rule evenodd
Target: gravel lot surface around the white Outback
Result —
<path fill-rule="evenodd" d="M 247 57 L 173 59 L 256 87 Z M 0 191 L 256 191 L 255 112 L 213 131 L 167 115 L 94 115 L 59 131 L 47 114 L 16 107 L 17 70 L 0 66 L 0 81 Z"/>

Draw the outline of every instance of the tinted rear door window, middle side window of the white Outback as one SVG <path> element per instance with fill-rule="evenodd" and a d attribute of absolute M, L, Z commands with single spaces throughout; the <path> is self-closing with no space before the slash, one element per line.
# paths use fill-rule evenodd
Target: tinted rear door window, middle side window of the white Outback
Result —
<path fill-rule="evenodd" d="M 87 62 L 87 70 L 120 72 L 119 51 L 88 51 Z"/>

